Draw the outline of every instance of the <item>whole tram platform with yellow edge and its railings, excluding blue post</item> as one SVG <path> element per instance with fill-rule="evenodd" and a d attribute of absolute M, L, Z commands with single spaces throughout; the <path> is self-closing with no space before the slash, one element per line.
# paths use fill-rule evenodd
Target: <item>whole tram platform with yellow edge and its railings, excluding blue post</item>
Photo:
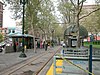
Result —
<path fill-rule="evenodd" d="M 89 72 L 88 49 L 64 49 L 54 56 L 53 64 L 46 75 L 100 75 L 100 58 L 92 57 L 92 73 Z"/>

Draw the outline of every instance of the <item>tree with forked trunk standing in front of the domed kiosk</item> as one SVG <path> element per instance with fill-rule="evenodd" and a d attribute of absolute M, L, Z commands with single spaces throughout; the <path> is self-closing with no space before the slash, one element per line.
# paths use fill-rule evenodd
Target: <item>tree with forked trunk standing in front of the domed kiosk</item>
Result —
<path fill-rule="evenodd" d="M 65 1 L 65 0 L 62 0 L 62 2 L 63 1 Z M 76 26 L 77 26 L 77 47 L 80 47 L 80 36 L 79 36 L 79 27 L 80 27 L 80 20 L 81 19 L 83 19 L 83 18 L 85 18 L 85 17 L 88 17 L 89 15 L 91 15 L 92 13 L 94 13 L 94 12 L 96 12 L 96 11 L 98 11 L 98 10 L 100 10 L 100 8 L 98 7 L 98 8 L 96 8 L 95 10 L 93 10 L 93 11 L 91 11 L 91 12 L 89 12 L 88 14 L 86 14 L 86 15 L 83 15 L 82 16 L 82 14 L 81 14 L 81 12 L 82 12 L 82 7 L 83 7 L 83 3 L 85 2 L 85 0 L 67 0 L 67 2 L 66 3 L 71 3 L 73 6 L 73 9 L 74 9 L 74 12 L 75 12 L 75 18 L 74 18 L 74 20 L 75 20 L 75 23 L 74 24 L 76 24 Z M 70 5 L 71 5 L 70 4 Z M 67 8 L 67 7 L 66 7 Z M 69 7 L 68 7 L 69 8 Z M 71 10 L 69 10 L 69 11 L 71 11 Z M 65 12 L 65 13 L 67 13 L 67 12 Z M 65 15 L 65 13 L 62 13 L 63 15 Z M 69 16 L 69 17 L 71 17 L 70 15 L 67 15 L 67 16 Z M 66 17 L 66 16 L 65 16 Z M 69 23 L 69 22 L 68 22 Z"/>

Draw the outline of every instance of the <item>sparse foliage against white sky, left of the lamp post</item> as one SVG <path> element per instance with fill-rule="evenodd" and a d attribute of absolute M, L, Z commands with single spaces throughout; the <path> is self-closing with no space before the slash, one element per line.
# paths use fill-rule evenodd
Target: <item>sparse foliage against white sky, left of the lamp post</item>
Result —
<path fill-rule="evenodd" d="M 12 18 L 17 20 L 20 19 L 22 16 L 22 7 L 20 5 L 20 0 L 3 0 L 4 4 L 7 6 L 9 5 L 9 9 L 12 12 Z"/>

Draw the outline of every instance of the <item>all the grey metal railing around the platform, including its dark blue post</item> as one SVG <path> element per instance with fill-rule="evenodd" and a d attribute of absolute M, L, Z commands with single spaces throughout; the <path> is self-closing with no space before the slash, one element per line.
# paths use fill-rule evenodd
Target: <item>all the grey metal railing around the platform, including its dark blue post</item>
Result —
<path fill-rule="evenodd" d="M 98 52 L 98 53 L 97 53 Z M 61 74 L 57 74 L 56 69 L 61 68 L 66 68 L 66 66 L 63 64 L 62 66 L 57 66 L 56 62 L 57 60 L 63 60 L 67 62 L 68 64 L 73 65 L 74 67 L 79 68 L 80 70 L 84 71 L 85 73 L 89 75 L 94 75 L 92 73 L 92 61 L 100 61 L 100 58 L 97 58 L 99 55 L 99 50 L 98 51 L 93 51 L 92 46 L 90 47 L 90 50 L 87 48 L 63 48 L 61 50 L 61 54 L 57 54 L 54 56 L 54 75 L 67 75 L 63 74 L 63 71 Z M 85 68 L 82 68 L 81 66 L 75 64 L 72 62 L 72 60 L 78 60 L 78 61 L 87 61 L 88 64 L 88 70 Z M 67 67 L 68 68 L 68 67 Z M 82 74 L 82 75 L 87 75 L 87 74 Z"/>

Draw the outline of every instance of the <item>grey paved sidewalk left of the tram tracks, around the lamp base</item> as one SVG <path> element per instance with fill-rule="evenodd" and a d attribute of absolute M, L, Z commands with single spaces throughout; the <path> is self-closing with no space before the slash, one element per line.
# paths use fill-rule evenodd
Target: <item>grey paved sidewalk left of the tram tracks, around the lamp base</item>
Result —
<path fill-rule="evenodd" d="M 56 50 L 60 48 L 60 46 L 56 46 L 54 48 L 49 48 L 49 50 Z M 21 54 L 21 52 L 16 52 L 16 53 L 6 53 L 6 54 L 0 54 L 0 71 L 9 68 L 13 65 L 16 65 L 18 63 L 21 63 L 33 56 L 37 56 L 40 53 L 45 52 L 44 49 L 36 49 L 37 53 L 34 53 L 33 49 L 29 49 L 27 52 L 25 52 L 25 54 L 27 55 L 26 58 L 20 58 L 19 55 Z"/>

